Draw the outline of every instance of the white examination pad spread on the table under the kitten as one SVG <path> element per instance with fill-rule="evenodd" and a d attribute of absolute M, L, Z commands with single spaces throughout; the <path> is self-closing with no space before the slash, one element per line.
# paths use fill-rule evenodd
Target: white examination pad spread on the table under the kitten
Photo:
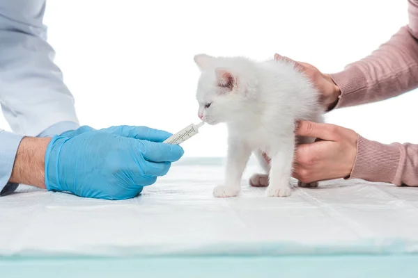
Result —
<path fill-rule="evenodd" d="M 418 251 L 418 188 L 332 181 L 265 197 L 212 196 L 220 159 L 185 158 L 134 199 L 106 201 L 21 186 L 0 198 L 0 254 L 401 254 Z"/>

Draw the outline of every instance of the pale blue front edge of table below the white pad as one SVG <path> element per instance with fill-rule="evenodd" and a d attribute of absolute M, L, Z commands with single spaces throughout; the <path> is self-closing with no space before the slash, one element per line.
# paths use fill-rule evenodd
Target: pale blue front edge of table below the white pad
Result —
<path fill-rule="evenodd" d="M 0 277 L 418 277 L 418 255 L 3 256 Z"/>

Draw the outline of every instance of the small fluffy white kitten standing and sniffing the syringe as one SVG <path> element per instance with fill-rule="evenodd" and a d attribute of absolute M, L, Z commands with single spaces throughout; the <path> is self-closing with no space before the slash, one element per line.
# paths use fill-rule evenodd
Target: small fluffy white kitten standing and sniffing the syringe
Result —
<path fill-rule="evenodd" d="M 242 173 L 251 152 L 265 172 L 270 172 L 270 177 L 255 174 L 251 185 L 268 186 L 268 196 L 291 195 L 295 122 L 323 122 L 318 92 L 290 62 L 256 63 L 242 57 L 215 58 L 205 54 L 194 60 L 201 69 L 196 95 L 199 117 L 208 124 L 225 122 L 229 130 L 226 179 L 224 186 L 215 188 L 214 195 L 233 197 L 240 193 Z M 271 158 L 270 163 L 263 152 Z"/>

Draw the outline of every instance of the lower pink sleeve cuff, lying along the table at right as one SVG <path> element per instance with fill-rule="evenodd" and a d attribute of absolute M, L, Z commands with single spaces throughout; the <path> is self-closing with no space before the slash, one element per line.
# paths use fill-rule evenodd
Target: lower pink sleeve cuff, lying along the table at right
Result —
<path fill-rule="evenodd" d="M 350 179 L 418 186 L 418 145 L 385 145 L 359 136 Z"/>

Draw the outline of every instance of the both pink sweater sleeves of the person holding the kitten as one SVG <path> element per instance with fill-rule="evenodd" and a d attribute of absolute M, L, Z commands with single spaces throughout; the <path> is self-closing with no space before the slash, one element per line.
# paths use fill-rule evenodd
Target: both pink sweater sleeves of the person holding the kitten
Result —
<path fill-rule="evenodd" d="M 408 4 L 408 26 L 370 56 L 331 75 L 341 89 L 335 108 L 389 99 L 418 88 L 418 0 Z M 418 186 L 418 145 L 384 145 L 359 136 L 350 179 Z"/>

